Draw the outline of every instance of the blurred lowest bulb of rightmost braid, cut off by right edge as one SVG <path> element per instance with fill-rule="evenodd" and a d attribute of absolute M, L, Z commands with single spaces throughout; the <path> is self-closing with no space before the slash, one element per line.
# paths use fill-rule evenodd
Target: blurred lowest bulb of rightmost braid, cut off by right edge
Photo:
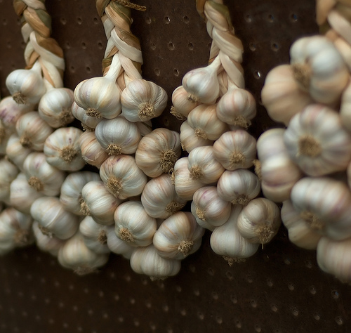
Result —
<path fill-rule="evenodd" d="M 341 282 L 351 281 L 351 238 L 331 240 L 322 237 L 317 245 L 317 263 L 324 272 L 332 274 Z"/>

